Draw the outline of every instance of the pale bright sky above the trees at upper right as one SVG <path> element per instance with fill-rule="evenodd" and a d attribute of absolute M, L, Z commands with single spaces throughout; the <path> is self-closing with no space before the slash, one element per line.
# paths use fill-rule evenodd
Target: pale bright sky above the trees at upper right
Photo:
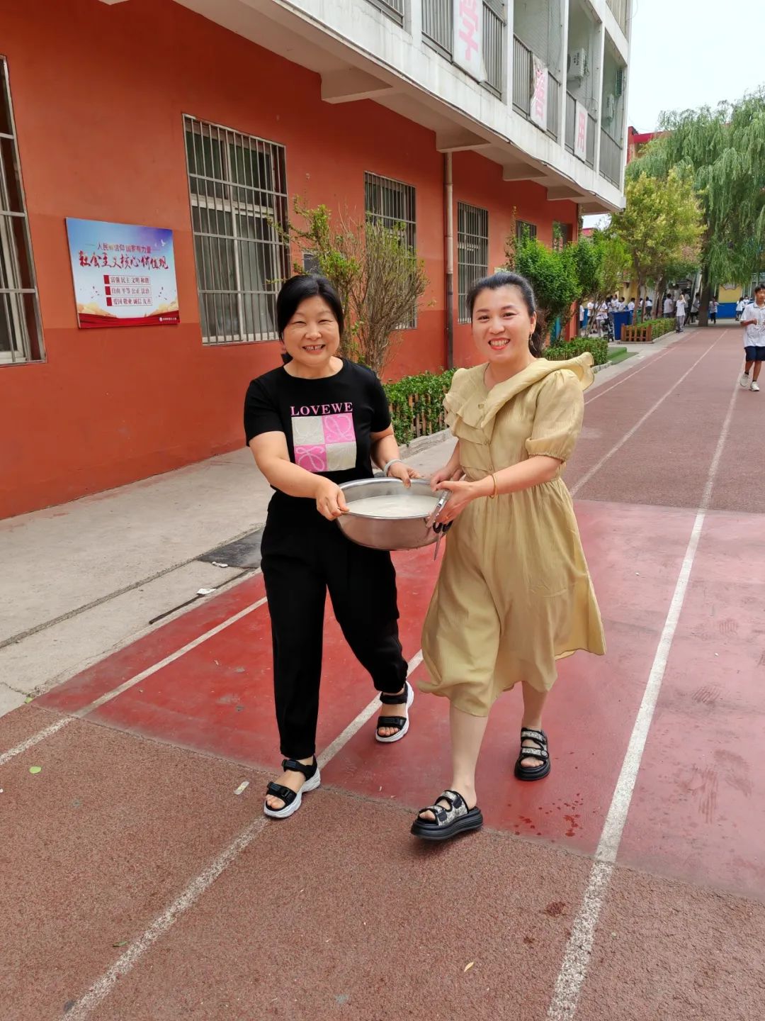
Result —
<path fill-rule="evenodd" d="M 765 85 L 762 11 L 762 0 L 632 0 L 627 123 L 654 131 L 662 110 Z"/>

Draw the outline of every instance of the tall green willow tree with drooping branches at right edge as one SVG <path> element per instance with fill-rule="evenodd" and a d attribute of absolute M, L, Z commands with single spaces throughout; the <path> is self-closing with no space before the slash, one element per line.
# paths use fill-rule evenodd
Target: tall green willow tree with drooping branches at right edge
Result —
<path fill-rule="evenodd" d="M 710 284 L 746 284 L 765 265 L 765 89 L 736 103 L 664 113 L 667 134 L 627 167 L 666 181 L 691 179 L 701 205 L 701 264 Z"/>

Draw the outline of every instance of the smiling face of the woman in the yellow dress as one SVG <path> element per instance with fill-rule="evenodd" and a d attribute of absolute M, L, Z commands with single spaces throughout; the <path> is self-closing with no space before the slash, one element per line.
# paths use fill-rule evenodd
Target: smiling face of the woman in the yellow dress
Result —
<path fill-rule="evenodd" d="M 479 291 L 473 305 L 473 341 L 481 359 L 500 366 L 531 360 L 528 337 L 537 326 L 537 315 L 528 308 L 519 288 L 513 284 Z"/>

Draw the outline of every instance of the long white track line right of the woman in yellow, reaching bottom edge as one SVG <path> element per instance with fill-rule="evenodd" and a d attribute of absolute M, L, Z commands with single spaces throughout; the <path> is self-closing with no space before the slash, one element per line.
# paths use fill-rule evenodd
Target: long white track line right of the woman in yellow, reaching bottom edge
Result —
<path fill-rule="evenodd" d="M 737 391 L 738 379 L 736 376 L 727 414 L 722 425 L 722 430 L 720 431 L 712 463 L 709 467 L 701 503 L 696 514 L 691 538 L 688 539 L 674 593 L 672 594 L 666 620 L 664 621 L 659 645 L 651 667 L 643 701 L 638 711 L 638 717 L 621 766 L 619 779 L 616 782 L 611 806 L 606 816 L 600 841 L 598 842 L 598 849 L 595 853 L 595 862 L 582 896 L 581 907 L 576 916 L 576 921 L 574 922 L 571 936 L 563 956 L 563 963 L 558 974 L 558 979 L 555 983 L 553 999 L 547 1014 L 548 1021 L 571 1021 L 576 1014 L 576 1005 L 590 965 L 595 930 L 598 926 L 606 893 L 608 892 L 611 875 L 615 868 L 616 856 L 619 850 L 627 814 L 629 813 L 629 805 L 638 780 L 648 732 L 651 727 L 654 711 L 656 710 L 662 681 L 664 680 L 664 673 L 667 668 L 675 631 L 677 630 L 677 623 L 680 619 L 682 604 L 685 600 L 694 561 L 699 549 L 699 540 L 701 539 L 704 520 L 712 502 L 712 491 L 717 471 L 720 467 L 722 451 L 730 430 Z"/>

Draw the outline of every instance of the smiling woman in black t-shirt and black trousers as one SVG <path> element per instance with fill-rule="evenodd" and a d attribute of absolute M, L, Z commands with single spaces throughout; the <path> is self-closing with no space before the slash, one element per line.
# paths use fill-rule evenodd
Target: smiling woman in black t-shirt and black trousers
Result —
<path fill-rule="evenodd" d="M 285 819 L 320 782 L 315 740 L 327 589 L 348 644 L 390 713 L 378 718 L 376 739 L 400 740 L 409 728 L 414 692 L 399 641 L 390 553 L 350 542 L 336 519 L 348 510 L 340 484 L 371 478 L 372 463 L 405 486 L 418 475 L 399 459 L 377 377 L 336 355 L 343 306 L 332 284 L 293 277 L 276 299 L 276 321 L 286 364 L 250 384 L 245 434 L 275 490 L 261 550 L 286 758 L 263 811 Z"/>

